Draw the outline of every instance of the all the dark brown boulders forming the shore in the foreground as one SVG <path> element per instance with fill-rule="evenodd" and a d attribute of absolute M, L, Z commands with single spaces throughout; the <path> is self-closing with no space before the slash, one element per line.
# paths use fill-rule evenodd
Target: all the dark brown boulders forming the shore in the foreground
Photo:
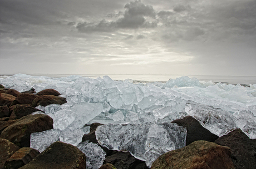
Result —
<path fill-rule="evenodd" d="M 36 93 L 35 89 L 19 93 L 0 85 L 0 169 L 2 168 L 86 168 L 86 155 L 77 147 L 61 141 L 45 151 L 30 148 L 30 135 L 53 129 L 53 120 L 35 107 L 50 104 L 62 105 L 66 99 L 53 89 Z M 249 139 L 240 129 L 218 137 L 205 129 L 191 116 L 170 121 L 186 127 L 186 146 L 161 155 L 151 168 L 255 168 L 256 140 Z M 90 125 L 90 132 L 81 142 L 98 144 L 97 126 Z M 113 136 L 115 137 L 115 136 Z M 101 145 L 99 145 L 101 146 Z M 144 161 L 130 152 L 109 150 L 100 168 L 147 168 Z"/>

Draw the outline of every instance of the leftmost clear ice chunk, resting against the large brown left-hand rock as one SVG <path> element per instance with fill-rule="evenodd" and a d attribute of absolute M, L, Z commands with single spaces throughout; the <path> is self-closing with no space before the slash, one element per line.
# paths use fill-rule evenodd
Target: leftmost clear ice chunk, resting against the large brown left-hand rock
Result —
<path fill-rule="evenodd" d="M 48 146 L 60 139 L 61 131 L 59 129 L 51 129 L 42 132 L 33 132 L 30 135 L 30 147 L 35 148 L 39 152 L 43 152 Z"/>

